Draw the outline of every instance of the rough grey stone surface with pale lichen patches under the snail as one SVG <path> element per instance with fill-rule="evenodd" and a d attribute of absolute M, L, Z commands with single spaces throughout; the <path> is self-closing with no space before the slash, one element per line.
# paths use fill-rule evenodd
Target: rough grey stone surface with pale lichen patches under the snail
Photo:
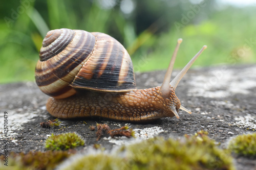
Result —
<path fill-rule="evenodd" d="M 9 151 L 45 151 L 44 144 L 51 133 L 76 132 L 86 144 L 79 150 L 88 150 L 100 143 L 107 150 L 121 144 L 135 143 L 157 135 L 179 138 L 197 131 L 209 132 L 209 137 L 221 142 L 225 148 L 228 141 L 239 134 L 256 131 L 256 65 L 217 66 L 190 69 L 176 89 L 181 104 L 193 113 L 179 112 L 180 119 L 167 117 L 144 124 L 115 122 L 102 118 L 61 120 L 59 128 L 44 129 L 40 122 L 52 117 L 46 110 L 48 96 L 34 82 L 0 85 L 0 141 L 4 134 L 4 112 L 8 114 Z M 138 88 L 160 86 L 165 71 L 136 74 Z M 173 77 L 178 70 L 173 72 Z M 129 125 L 137 138 L 111 138 L 103 135 L 96 141 L 90 125 L 108 124 L 110 128 Z M 3 153 L 3 148 L 0 150 Z M 255 169 L 256 160 L 236 157 L 237 169 Z"/>

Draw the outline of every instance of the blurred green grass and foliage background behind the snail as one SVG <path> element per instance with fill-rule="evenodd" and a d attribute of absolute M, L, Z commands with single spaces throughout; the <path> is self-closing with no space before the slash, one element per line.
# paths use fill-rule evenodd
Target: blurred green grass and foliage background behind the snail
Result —
<path fill-rule="evenodd" d="M 120 41 L 135 71 L 166 69 L 178 38 L 176 68 L 203 45 L 198 66 L 256 62 L 256 3 L 221 1 L 1 1 L 0 83 L 33 81 L 42 39 L 59 28 L 103 32 Z"/>

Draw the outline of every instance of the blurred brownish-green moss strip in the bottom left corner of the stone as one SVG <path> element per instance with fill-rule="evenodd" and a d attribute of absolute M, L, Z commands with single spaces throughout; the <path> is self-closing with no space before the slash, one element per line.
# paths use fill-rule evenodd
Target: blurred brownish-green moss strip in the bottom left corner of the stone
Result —
<path fill-rule="evenodd" d="M 29 152 L 27 154 L 11 154 L 8 166 L 0 169 L 54 169 L 71 154 L 66 151 Z"/>

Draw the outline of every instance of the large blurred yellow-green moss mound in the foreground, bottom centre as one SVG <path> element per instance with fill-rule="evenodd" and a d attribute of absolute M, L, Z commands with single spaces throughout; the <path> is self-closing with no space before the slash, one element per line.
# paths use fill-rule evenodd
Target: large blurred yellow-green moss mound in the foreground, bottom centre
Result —
<path fill-rule="evenodd" d="M 100 162 L 100 163 L 99 163 Z M 66 169 L 234 169 L 229 154 L 201 131 L 181 140 L 153 138 L 115 154 L 83 156 Z M 75 168 L 74 168 L 75 167 Z"/>

